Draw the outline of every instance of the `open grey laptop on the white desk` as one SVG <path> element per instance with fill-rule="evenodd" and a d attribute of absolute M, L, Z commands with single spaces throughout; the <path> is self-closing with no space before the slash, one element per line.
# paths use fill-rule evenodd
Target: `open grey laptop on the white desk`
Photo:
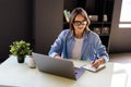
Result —
<path fill-rule="evenodd" d="M 34 53 L 34 61 L 40 72 L 78 79 L 84 72 L 85 69 L 74 67 L 73 62 L 66 59 L 55 59 L 46 54 Z"/>

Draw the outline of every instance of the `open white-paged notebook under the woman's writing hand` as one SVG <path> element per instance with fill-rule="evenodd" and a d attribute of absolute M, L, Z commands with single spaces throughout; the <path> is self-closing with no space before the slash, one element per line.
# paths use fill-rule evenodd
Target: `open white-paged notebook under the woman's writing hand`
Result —
<path fill-rule="evenodd" d="M 95 67 L 92 67 L 91 64 L 86 64 L 86 65 L 83 65 L 82 67 L 90 71 L 90 72 L 96 73 L 96 72 L 103 70 L 104 67 L 106 67 L 106 65 L 100 64 L 97 69 L 95 69 Z"/>

